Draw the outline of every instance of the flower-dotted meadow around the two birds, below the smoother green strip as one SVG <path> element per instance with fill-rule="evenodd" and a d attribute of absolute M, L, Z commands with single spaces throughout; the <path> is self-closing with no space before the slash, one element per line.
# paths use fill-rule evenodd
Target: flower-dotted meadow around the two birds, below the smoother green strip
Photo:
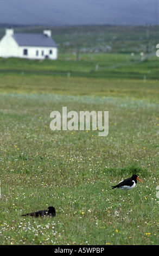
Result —
<path fill-rule="evenodd" d="M 42 81 L 41 76 L 39 86 Z M 60 89 L 61 78 L 55 82 Z M 122 83 L 117 87 L 122 93 Z M 55 94 L 51 84 L 50 93 L 5 89 L 1 94 L 1 244 L 157 244 L 158 105 L 152 84 L 152 94 L 145 99 L 133 93 L 94 96 L 85 90 L 85 95 L 75 95 L 70 87 L 68 94 Z M 68 111 L 109 110 L 109 135 L 53 132 L 49 114 L 61 112 L 62 106 Z M 132 173 L 143 184 L 138 182 L 128 195 L 111 190 L 111 185 Z M 21 217 L 49 205 L 55 205 L 55 219 Z"/>

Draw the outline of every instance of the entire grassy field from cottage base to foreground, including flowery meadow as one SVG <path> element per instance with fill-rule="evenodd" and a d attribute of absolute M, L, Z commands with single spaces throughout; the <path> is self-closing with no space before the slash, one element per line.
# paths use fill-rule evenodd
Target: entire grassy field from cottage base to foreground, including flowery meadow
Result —
<path fill-rule="evenodd" d="M 0 244 L 158 245 L 158 59 L 72 56 L 0 59 Z M 63 106 L 109 111 L 109 135 L 50 130 Z M 21 216 L 51 205 L 55 218 Z"/>

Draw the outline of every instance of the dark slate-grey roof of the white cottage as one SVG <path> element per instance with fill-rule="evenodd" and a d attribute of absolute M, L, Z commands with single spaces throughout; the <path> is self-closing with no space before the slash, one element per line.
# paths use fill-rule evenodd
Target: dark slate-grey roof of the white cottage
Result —
<path fill-rule="evenodd" d="M 12 35 L 20 46 L 58 47 L 51 36 L 33 33 L 14 33 Z"/>

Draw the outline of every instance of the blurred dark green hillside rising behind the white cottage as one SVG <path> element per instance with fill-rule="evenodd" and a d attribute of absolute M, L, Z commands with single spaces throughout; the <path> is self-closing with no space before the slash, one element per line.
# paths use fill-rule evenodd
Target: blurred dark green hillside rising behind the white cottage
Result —
<path fill-rule="evenodd" d="M 145 53 L 147 28 L 145 26 L 16 26 L 15 32 L 42 33 L 44 28 L 52 30 L 52 36 L 59 46 L 59 53 Z M 0 39 L 5 29 L 0 29 Z M 149 28 L 149 52 L 155 52 L 159 43 L 159 26 Z M 133 57 L 135 59 L 135 57 Z"/>

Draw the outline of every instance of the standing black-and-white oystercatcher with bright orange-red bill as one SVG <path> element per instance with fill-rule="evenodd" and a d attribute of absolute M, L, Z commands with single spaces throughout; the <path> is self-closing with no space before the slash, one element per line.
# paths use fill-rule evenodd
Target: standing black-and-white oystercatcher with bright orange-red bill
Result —
<path fill-rule="evenodd" d="M 128 190 L 131 190 L 131 188 L 133 188 L 133 187 L 136 186 L 137 180 L 139 180 L 138 177 L 137 177 L 137 175 L 136 175 L 136 174 L 133 174 L 133 175 L 131 176 L 131 178 L 122 180 L 122 181 L 119 182 L 118 185 L 112 186 L 112 190 L 113 190 L 114 188 L 121 188 L 121 190 L 126 190 L 126 193 L 127 193 Z M 141 180 L 139 180 L 139 181 L 141 181 Z M 141 181 L 141 182 L 143 182 L 143 181 Z"/>

